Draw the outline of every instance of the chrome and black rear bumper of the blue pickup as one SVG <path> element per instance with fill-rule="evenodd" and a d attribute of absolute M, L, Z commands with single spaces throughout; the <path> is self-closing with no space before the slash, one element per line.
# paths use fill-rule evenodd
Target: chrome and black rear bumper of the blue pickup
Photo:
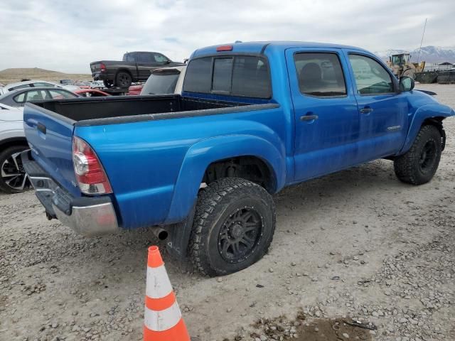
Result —
<path fill-rule="evenodd" d="M 117 232 L 119 225 L 110 197 L 74 197 L 33 161 L 31 151 L 21 153 L 23 168 L 28 174 L 36 197 L 50 218 L 56 218 L 85 236 Z"/>

